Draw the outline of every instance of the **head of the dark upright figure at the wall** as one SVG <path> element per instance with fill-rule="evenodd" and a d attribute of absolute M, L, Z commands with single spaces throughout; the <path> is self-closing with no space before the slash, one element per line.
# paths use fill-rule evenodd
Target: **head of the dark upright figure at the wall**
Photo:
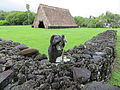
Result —
<path fill-rule="evenodd" d="M 65 46 L 66 40 L 64 35 L 52 35 L 50 44 L 56 46 L 57 48 L 63 48 Z M 58 49 L 59 50 L 59 49 Z"/>

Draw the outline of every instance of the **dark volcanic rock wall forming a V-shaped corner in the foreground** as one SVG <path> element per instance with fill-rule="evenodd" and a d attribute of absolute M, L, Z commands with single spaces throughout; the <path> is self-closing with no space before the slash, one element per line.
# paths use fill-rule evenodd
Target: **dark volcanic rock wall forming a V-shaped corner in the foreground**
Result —
<path fill-rule="evenodd" d="M 45 54 L 0 39 L 0 90 L 120 90 L 111 78 L 117 32 L 108 30 L 65 51 L 70 61 L 50 63 Z"/>

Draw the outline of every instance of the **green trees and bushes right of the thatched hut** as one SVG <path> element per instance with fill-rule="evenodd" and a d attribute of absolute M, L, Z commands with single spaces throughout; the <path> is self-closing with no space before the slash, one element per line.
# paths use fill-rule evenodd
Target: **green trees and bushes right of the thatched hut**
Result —
<path fill-rule="evenodd" d="M 120 28 L 120 15 L 106 12 L 99 17 L 90 16 L 89 18 L 74 17 L 76 23 L 80 27 L 88 28 Z"/>

